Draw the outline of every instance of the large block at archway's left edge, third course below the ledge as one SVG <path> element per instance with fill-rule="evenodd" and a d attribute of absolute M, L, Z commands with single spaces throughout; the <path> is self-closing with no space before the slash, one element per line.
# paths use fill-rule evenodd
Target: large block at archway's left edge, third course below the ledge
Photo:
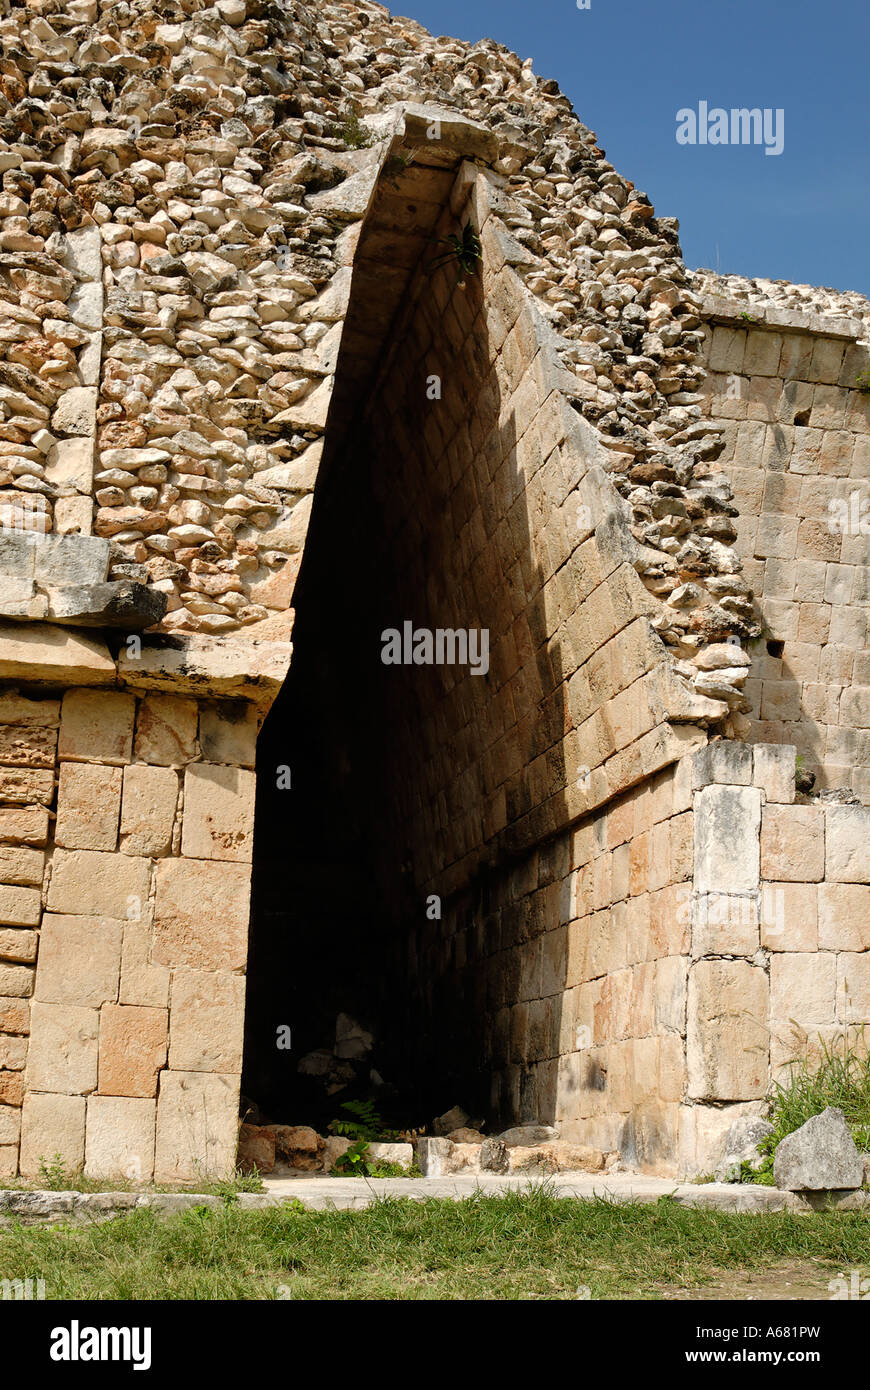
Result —
<path fill-rule="evenodd" d="M 160 859 L 154 960 L 202 970 L 243 970 L 250 870 L 200 859 Z"/>

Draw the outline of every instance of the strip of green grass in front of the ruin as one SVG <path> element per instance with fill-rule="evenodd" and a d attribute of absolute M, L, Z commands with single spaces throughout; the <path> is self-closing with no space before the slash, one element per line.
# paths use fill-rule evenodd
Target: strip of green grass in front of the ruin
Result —
<path fill-rule="evenodd" d="M 46 1298 L 660 1298 L 788 1262 L 830 1297 L 839 1272 L 870 1270 L 870 1219 L 556 1201 L 539 1188 L 0 1230 L 0 1279 L 42 1277 Z"/>

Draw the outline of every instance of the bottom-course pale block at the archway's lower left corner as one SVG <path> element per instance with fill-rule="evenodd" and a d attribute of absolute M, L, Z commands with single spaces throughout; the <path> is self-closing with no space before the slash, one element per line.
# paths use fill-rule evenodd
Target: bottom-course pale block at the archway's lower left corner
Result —
<path fill-rule="evenodd" d="M 161 1072 L 156 1182 L 228 1177 L 236 1162 L 238 1111 L 238 1077 L 206 1072 Z"/>

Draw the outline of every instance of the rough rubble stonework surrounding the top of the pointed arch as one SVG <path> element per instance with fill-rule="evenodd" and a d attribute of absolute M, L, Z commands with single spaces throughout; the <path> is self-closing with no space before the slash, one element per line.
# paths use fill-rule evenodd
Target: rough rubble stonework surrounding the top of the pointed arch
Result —
<path fill-rule="evenodd" d="M 511 260 L 607 446 L 653 626 L 744 709 L 732 644 L 756 627 L 699 285 L 531 60 L 367 0 L 0 13 L 4 506 L 110 538 L 113 577 L 165 595 L 163 631 L 286 637 L 384 122 L 436 101 L 498 138 Z"/>

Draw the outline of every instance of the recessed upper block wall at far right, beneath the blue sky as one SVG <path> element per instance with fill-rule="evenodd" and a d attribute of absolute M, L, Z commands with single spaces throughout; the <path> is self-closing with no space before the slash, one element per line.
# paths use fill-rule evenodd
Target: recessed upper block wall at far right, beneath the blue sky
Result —
<path fill-rule="evenodd" d="M 870 367 L 857 318 L 705 302 L 705 414 L 723 425 L 735 549 L 763 632 L 746 737 L 870 801 Z M 746 322 L 749 318 L 749 322 Z M 867 378 L 870 379 L 870 378 Z"/>

